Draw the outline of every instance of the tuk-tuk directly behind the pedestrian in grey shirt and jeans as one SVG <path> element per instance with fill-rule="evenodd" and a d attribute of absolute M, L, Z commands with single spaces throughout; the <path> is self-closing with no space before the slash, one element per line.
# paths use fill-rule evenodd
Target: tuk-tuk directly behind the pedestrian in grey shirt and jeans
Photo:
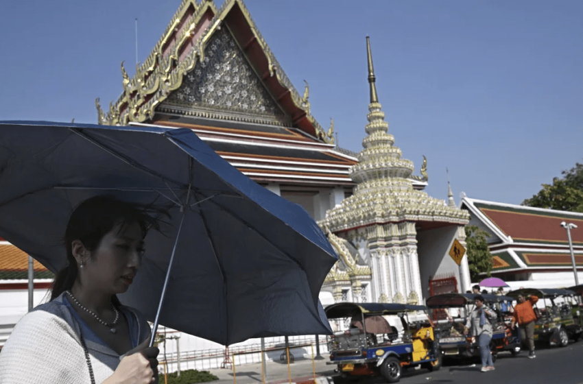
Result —
<path fill-rule="evenodd" d="M 431 309 L 431 320 L 440 335 L 440 348 L 444 358 L 469 358 L 479 356 L 479 344 L 473 335 L 464 335 L 464 326 L 468 315 L 474 309 L 474 293 L 443 293 L 427 299 L 427 307 Z M 518 355 L 520 337 L 518 330 L 512 331 L 504 313 L 497 308 L 497 304 L 512 298 L 499 295 L 481 295 L 484 304 L 497 315 L 490 319 L 492 324 L 492 341 L 490 350 L 492 360 L 496 360 L 498 352 L 509 351 Z"/>

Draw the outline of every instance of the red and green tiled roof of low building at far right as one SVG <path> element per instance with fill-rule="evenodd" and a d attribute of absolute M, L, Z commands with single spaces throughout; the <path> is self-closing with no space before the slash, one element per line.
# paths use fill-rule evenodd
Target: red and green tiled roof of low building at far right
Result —
<path fill-rule="evenodd" d="M 533 208 L 514 204 L 462 198 L 462 208 L 497 239 L 489 239 L 494 256 L 492 273 L 525 270 L 571 270 L 567 230 L 562 221 L 579 228 L 571 230 L 575 263 L 583 267 L 583 213 Z"/>

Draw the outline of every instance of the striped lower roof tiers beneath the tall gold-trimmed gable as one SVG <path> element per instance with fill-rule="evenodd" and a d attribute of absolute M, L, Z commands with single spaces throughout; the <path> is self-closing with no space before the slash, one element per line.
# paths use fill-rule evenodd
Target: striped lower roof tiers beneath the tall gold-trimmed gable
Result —
<path fill-rule="evenodd" d="M 348 171 L 356 158 L 338 152 L 332 144 L 322 143 L 297 128 L 249 132 L 203 125 L 213 121 L 158 121 L 156 125 L 189 128 L 231 165 L 256 182 L 313 184 L 353 187 Z M 132 123 L 136 124 L 136 123 Z M 139 125 L 151 125 L 139 123 Z"/>

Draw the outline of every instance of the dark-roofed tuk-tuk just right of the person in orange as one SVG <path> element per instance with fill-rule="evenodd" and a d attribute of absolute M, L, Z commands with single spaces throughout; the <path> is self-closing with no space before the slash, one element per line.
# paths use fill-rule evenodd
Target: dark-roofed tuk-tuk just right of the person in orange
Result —
<path fill-rule="evenodd" d="M 534 304 L 534 341 L 566 347 L 569 339 L 577 341 L 581 337 L 583 323 L 575 291 L 525 288 L 508 292 L 513 300 L 520 294 L 525 298 L 538 297 L 538 302 Z"/>

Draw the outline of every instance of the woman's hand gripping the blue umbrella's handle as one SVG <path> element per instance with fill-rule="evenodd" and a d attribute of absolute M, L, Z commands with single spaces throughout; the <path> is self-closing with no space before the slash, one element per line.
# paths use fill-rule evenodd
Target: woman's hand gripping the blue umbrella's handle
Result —
<path fill-rule="evenodd" d="M 150 384 L 158 383 L 158 353 L 156 347 L 148 347 L 148 337 L 142 344 L 126 353 L 117 369 L 104 384 Z"/>

